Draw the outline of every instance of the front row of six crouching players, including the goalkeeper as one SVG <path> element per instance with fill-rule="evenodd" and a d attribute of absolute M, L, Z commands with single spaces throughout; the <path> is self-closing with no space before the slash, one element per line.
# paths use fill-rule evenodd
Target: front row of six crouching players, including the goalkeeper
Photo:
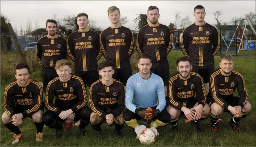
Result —
<path fill-rule="evenodd" d="M 67 118 L 75 121 L 80 119 L 79 136 L 85 135 L 85 127 L 91 123 L 102 139 L 101 124 L 106 121 L 109 125 L 115 124 L 118 137 L 122 136 L 121 129 L 125 122 L 135 129 L 138 138 L 148 129 L 138 125 L 137 119 L 153 120 L 149 131 L 156 136 L 158 132 L 155 128 L 168 123 L 176 130 L 182 112 L 195 123 L 197 131 L 201 131 L 201 119 L 210 114 L 212 130 L 217 131 L 218 118 L 223 111 L 229 110 L 233 114 L 230 124 L 239 131 L 240 119 L 246 117 L 252 107 L 242 75 L 233 70 L 232 56 L 227 54 L 220 57 L 220 68 L 210 75 L 210 92 L 207 96 L 201 76 L 191 72 L 190 59 L 181 57 L 176 64 L 178 72 L 169 79 L 167 101 L 164 82 L 150 72 L 152 64 L 147 53 L 139 56 L 139 72 L 128 79 L 126 92 L 123 84 L 112 78 L 114 70 L 111 63 L 102 61 L 99 65 L 102 79 L 92 84 L 88 99 L 82 79 L 70 74 L 71 63 L 59 60 L 55 66 L 59 77 L 48 84 L 44 103 L 42 85 L 29 78 L 27 64 L 18 64 L 15 69 L 17 80 L 8 84 L 4 91 L 5 112 L 2 120 L 15 133 L 13 144 L 23 137 L 17 126 L 26 117 L 32 118 L 37 128 L 36 141 L 43 140 L 44 124 L 55 128 L 55 137 L 60 138 L 62 123 Z M 236 88 L 239 97 L 233 96 Z M 88 100 L 90 108 L 87 106 Z M 210 107 L 206 101 L 210 101 Z M 46 112 L 43 114 L 44 107 Z"/>

